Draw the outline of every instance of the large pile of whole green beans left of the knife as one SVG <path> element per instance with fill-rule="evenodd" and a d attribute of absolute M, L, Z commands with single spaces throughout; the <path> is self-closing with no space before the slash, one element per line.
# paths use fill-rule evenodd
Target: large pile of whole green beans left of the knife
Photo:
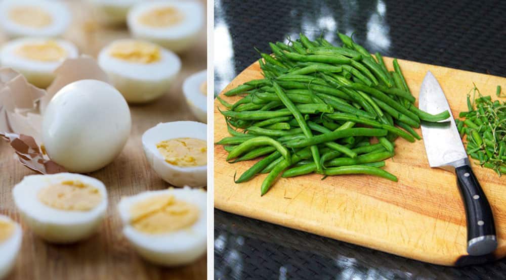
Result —
<path fill-rule="evenodd" d="M 395 154 L 395 139 L 414 142 L 421 120 L 449 117 L 414 106 L 397 60 L 389 72 L 379 53 L 371 56 L 349 36 L 339 37 L 342 46 L 304 34 L 269 43 L 272 55 L 259 52 L 264 78 L 225 92 L 243 97 L 234 104 L 218 98 L 231 135 L 217 142 L 229 152 L 227 161 L 265 156 L 234 176 L 236 183 L 269 173 L 261 186 L 265 195 L 280 175 L 368 174 L 397 181 L 381 169 Z"/>

